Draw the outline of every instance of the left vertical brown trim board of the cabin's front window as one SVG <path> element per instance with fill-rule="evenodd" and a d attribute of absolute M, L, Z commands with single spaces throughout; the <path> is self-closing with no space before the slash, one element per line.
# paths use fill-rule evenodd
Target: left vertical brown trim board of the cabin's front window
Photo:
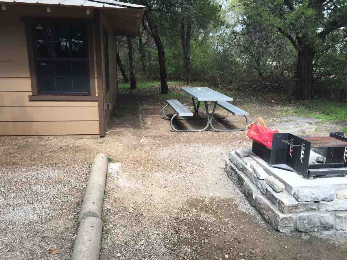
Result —
<path fill-rule="evenodd" d="M 31 92 L 32 92 L 32 95 L 37 96 L 36 65 L 35 65 L 35 53 L 34 53 L 34 45 L 33 45 L 33 26 L 31 24 L 25 24 L 25 31 L 26 31 L 26 43 L 28 48 Z"/>

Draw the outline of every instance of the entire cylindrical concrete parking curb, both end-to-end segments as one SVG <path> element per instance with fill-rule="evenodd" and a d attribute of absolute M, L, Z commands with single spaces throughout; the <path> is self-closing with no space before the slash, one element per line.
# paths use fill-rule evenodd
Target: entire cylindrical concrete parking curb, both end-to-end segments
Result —
<path fill-rule="evenodd" d="M 108 158 L 95 156 L 84 192 L 80 221 L 71 260 L 98 260 L 102 233 L 102 207 L 107 176 Z"/>

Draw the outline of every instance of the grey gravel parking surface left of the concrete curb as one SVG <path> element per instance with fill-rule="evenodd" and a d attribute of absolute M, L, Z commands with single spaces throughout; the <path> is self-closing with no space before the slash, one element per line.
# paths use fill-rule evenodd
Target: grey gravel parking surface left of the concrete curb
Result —
<path fill-rule="evenodd" d="M 70 259 L 89 170 L 0 167 L 0 259 Z"/>

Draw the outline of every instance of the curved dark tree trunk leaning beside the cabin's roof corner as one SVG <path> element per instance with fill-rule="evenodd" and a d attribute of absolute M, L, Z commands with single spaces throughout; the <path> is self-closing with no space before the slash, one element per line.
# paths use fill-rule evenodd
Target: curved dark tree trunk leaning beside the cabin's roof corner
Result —
<path fill-rule="evenodd" d="M 140 3 L 144 4 L 143 1 L 140 1 Z M 144 20 L 142 20 L 142 25 L 147 30 L 147 32 L 153 37 L 156 48 L 158 50 L 159 71 L 160 71 L 160 81 L 161 81 L 161 94 L 166 94 L 166 93 L 168 93 L 168 82 L 167 82 L 167 74 L 166 74 L 166 62 L 165 62 L 164 46 L 160 40 L 160 36 L 158 34 L 158 28 L 156 27 L 154 20 L 153 20 L 153 15 L 149 9 L 145 10 L 145 17 L 146 17 L 148 26 L 146 25 Z"/>

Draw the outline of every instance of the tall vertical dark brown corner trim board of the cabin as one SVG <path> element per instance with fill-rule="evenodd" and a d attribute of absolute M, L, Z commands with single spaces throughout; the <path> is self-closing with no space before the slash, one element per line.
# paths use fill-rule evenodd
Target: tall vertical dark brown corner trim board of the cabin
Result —
<path fill-rule="evenodd" d="M 99 132 L 105 136 L 105 108 L 104 108 L 104 86 L 102 66 L 102 21 L 101 11 L 94 9 L 95 20 L 95 50 L 96 50 L 96 76 L 98 77 L 98 105 L 99 105 Z"/>

